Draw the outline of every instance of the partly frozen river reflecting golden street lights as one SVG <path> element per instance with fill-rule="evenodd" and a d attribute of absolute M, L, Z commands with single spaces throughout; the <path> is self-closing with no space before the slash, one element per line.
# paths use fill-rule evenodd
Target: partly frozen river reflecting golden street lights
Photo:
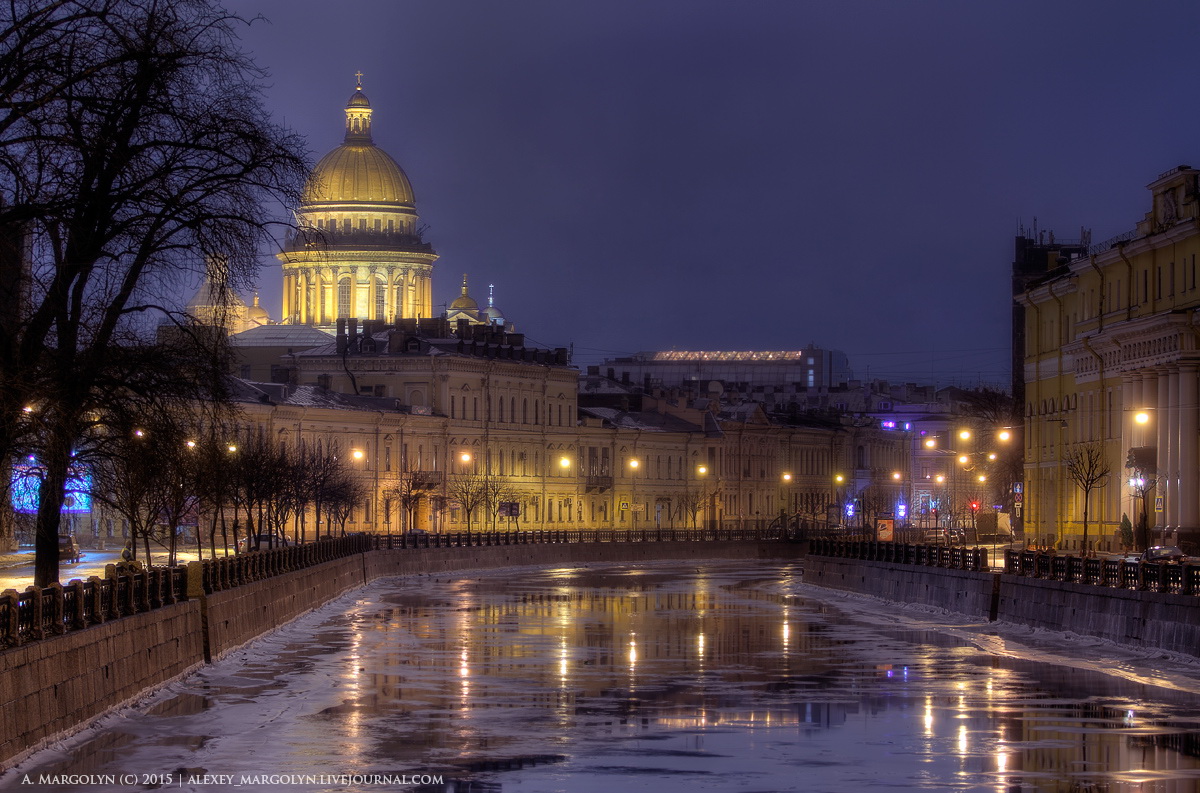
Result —
<path fill-rule="evenodd" d="M 794 563 L 389 579 L 0 777 L 156 786 L 1190 793 L 1200 667 L 809 588 Z"/>

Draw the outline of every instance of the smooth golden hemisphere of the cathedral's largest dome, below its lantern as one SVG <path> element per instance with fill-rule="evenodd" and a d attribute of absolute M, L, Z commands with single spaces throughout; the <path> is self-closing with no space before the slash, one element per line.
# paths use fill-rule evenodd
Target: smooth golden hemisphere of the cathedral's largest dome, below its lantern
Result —
<path fill-rule="evenodd" d="M 320 158 L 305 187 L 305 204 L 414 204 L 408 176 L 382 149 L 343 144 Z"/>

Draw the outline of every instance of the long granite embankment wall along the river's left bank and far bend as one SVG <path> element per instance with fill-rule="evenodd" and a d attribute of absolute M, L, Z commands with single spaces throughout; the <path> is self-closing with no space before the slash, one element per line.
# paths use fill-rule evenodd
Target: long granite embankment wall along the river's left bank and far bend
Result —
<path fill-rule="evenodd" d="M 792 558 L 786 542 L 372 551 L 0 651 L 0 770 L 50 739 L 376 578 L 518 565 Z"/>

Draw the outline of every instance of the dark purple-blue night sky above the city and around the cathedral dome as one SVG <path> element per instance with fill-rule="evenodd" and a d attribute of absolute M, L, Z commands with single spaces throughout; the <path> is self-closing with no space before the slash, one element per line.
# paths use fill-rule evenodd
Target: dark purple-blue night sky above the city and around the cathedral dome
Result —
<path fill-rule="evenodd" d="M 440 259 L 575 362 L 841 349 L 1007 384 L 1013 238 L 1200 164 L 1200 4 L 230 0 L 318 158 L 362 71 Z M 264 305 L 280 314 L 277 263 Z"/>

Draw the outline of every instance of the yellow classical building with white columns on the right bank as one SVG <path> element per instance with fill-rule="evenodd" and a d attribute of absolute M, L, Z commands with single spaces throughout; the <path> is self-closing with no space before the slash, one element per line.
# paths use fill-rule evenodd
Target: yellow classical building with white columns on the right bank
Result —
<path fill-rule="evenodd" d="M 1200 172 L 1181 166 L 1148 185 L 1151 209 L 1129 233 L 1054 260 L 1027 283 L 1025 488 L 1027 533 L 1074 546 L 1084 489 L 1070 463 L 1100 452 L 1090 539 L 1123 515 L 1147 541 L 1200 540 Z"/>

